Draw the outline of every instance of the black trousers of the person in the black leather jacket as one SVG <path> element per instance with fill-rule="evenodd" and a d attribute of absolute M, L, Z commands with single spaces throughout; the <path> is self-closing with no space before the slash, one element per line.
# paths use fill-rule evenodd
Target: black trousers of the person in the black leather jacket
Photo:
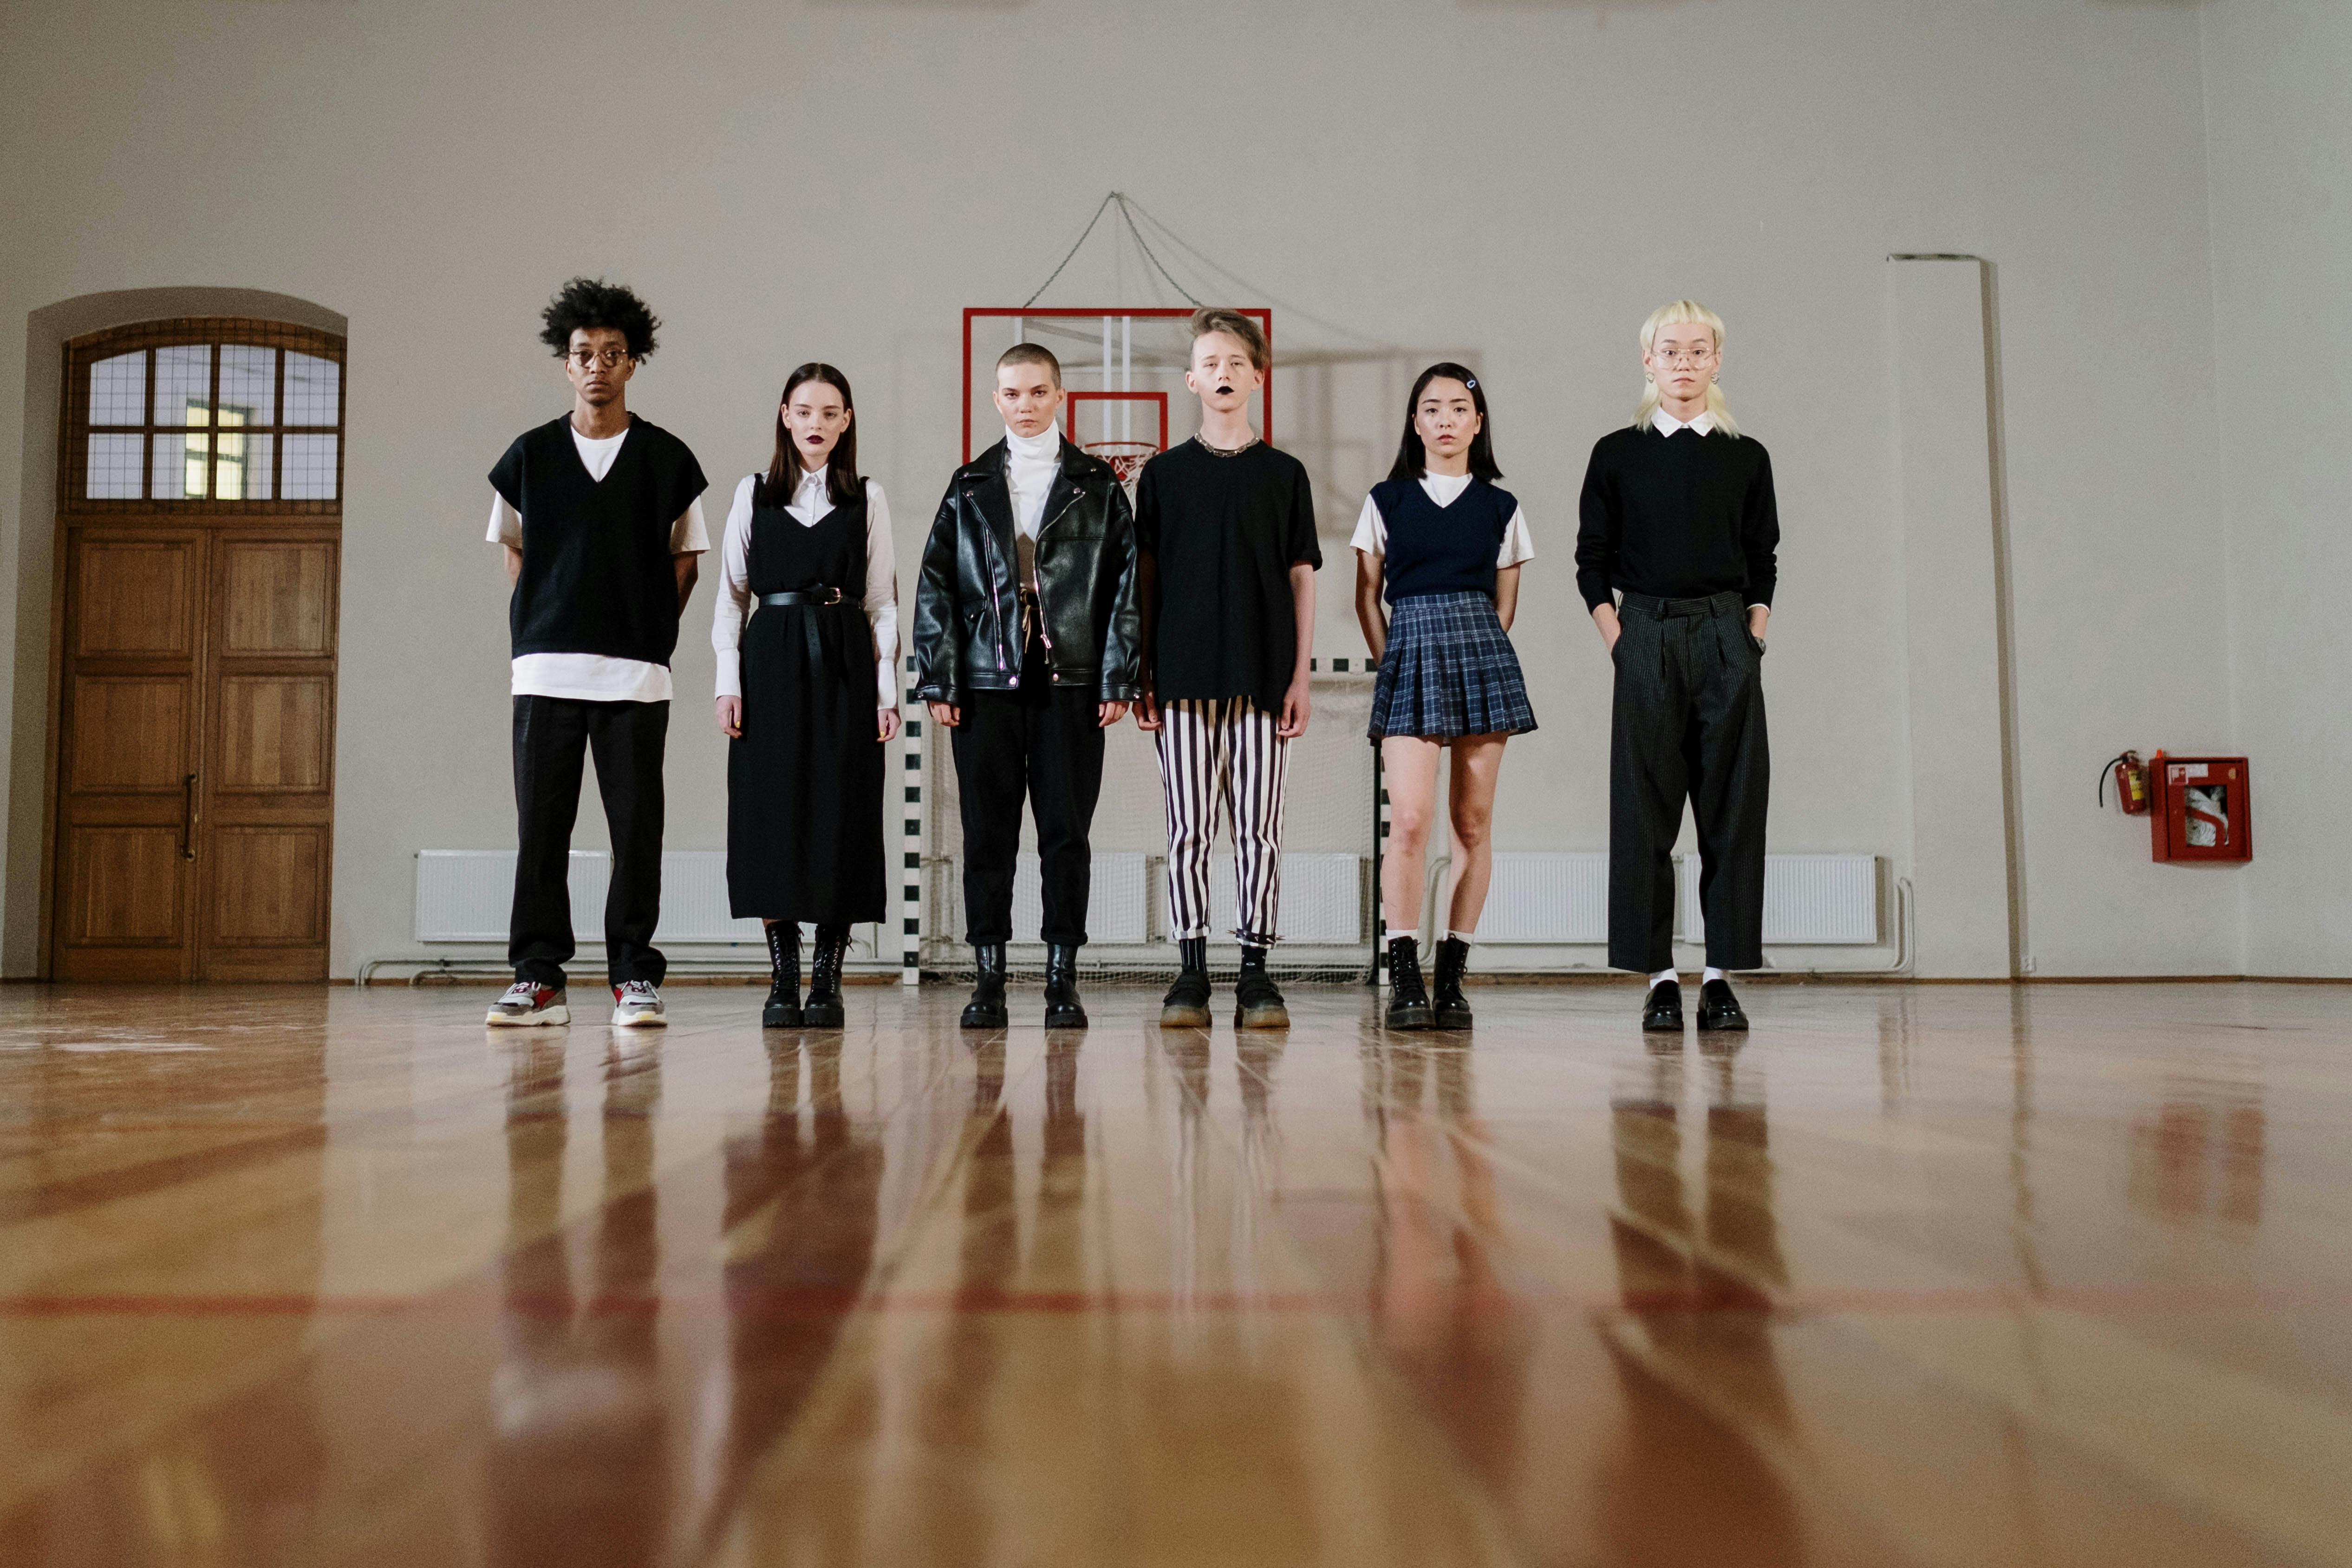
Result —
<path fill-rule="evenodd" d="M 1094 802 L 1103 795 L 1103 726 L 1094 686 L 1056 686 L 1030 639 L 1016 691 L 967 691 L 948 731 L 964 813 L 964 940 L 1014 940 L 1021 804 L 1037 818 L 1047 943 L 1087 940 Z"/>

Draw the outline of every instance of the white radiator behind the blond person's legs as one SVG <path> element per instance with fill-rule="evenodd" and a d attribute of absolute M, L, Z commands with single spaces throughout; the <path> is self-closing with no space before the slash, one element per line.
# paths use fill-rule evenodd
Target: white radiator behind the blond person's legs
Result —
<path fill-rule="evenodd" d="M 1496 851 L 1477 933 L 1482 943 L 1606 943 L 1609 856 L 1590 849 Z M 1684 943 L 1708 936 L 1698 912 L 1698 856 L 1675 858 L 1675 933 Z M 1764 856 L 1764 940 L 1785 947 L 1875 945 L 1877 858 Z"/>

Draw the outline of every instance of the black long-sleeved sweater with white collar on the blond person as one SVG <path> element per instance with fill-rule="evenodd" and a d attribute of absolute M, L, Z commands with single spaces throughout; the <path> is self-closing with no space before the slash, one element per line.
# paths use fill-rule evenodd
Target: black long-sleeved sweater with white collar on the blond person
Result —
<path fill-rule="evenodd" d="M 1592 444 L 1578 503 L 1576 590 L 1703 599 L 1738 590 L 1771 604 L 1780 510 L 1764 442 L 1715 430 L 1611 430 Z"/>

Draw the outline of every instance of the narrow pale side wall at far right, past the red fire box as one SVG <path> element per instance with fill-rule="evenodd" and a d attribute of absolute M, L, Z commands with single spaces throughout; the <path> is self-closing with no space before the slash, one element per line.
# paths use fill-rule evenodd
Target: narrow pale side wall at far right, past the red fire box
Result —
<path fill-rule="evenodd" d="M 2352 973 L 2352 7 L 2204 7 L 2251 973 Z"/>

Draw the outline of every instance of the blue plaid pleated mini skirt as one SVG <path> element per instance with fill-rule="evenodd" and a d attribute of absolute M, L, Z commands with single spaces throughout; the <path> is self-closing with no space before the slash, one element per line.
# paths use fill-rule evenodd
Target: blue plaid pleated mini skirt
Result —
<path fill-rule="evenodd" d="M 1510 632 L 1482 592 L 1425 592 L 1388 611 L 1371 738 L 1519 736 L 1536 729 Z"/>

